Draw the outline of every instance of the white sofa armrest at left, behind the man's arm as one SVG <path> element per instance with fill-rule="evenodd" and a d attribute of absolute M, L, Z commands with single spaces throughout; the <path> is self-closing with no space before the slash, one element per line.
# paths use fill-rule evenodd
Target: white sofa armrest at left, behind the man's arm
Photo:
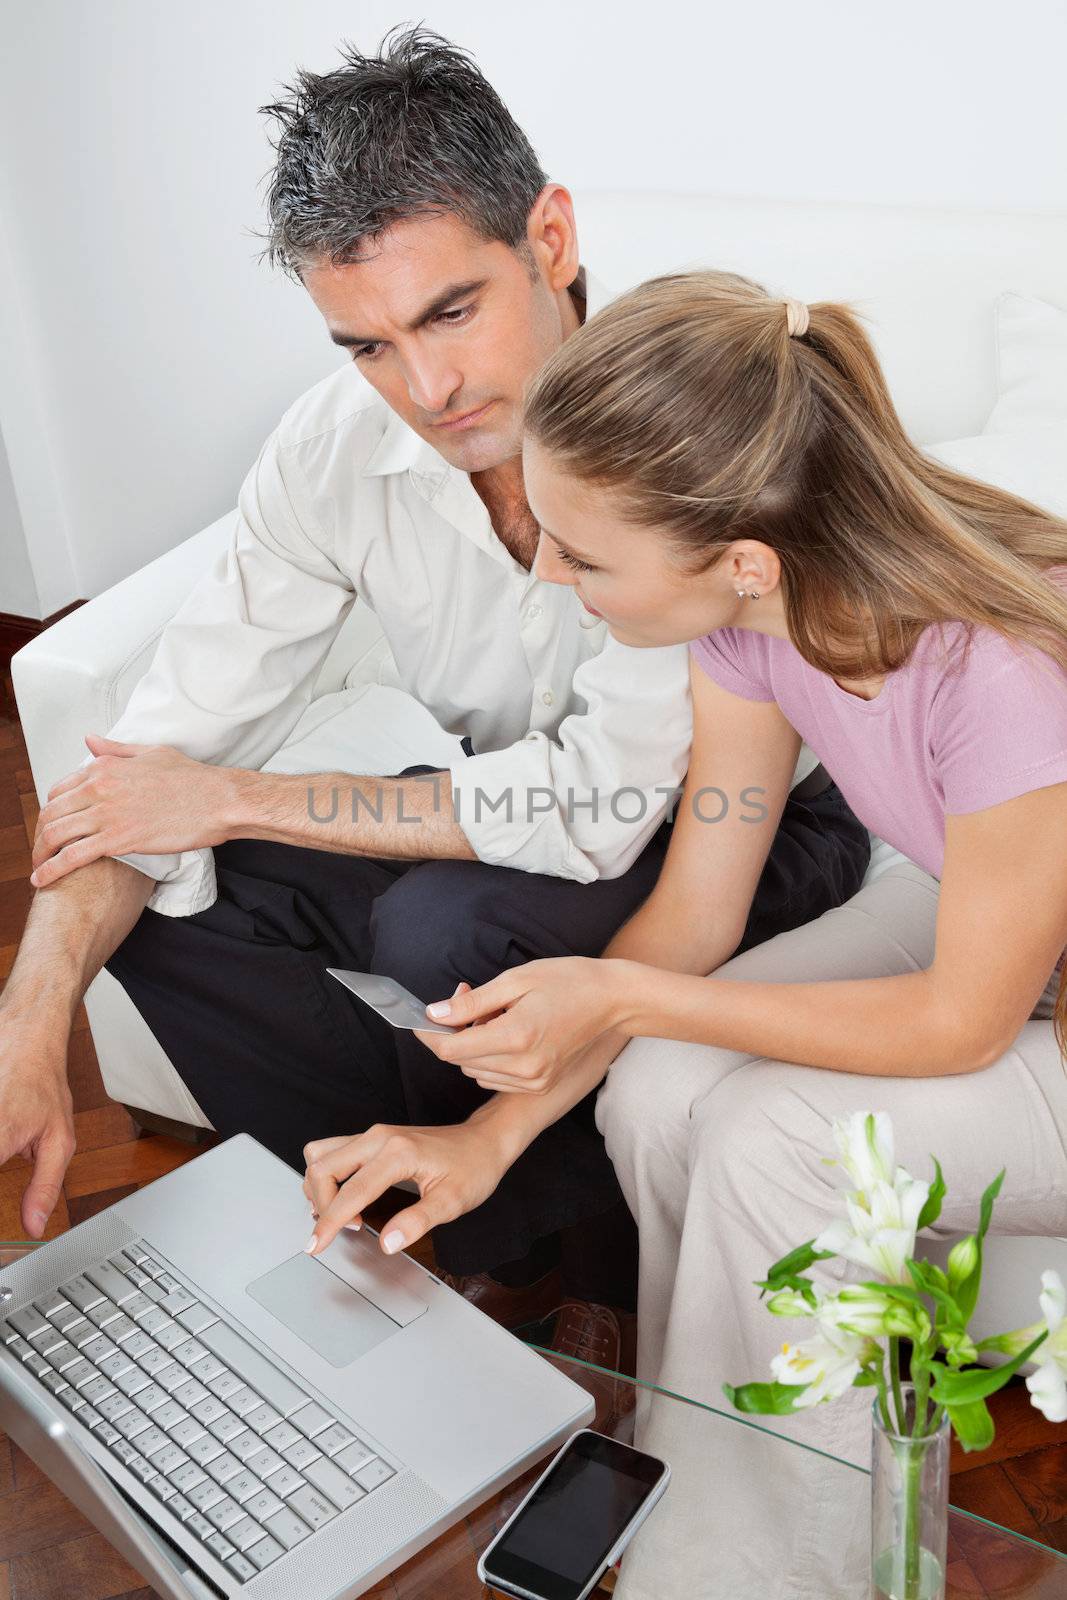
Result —
<path fill-rule="evenodd" d="M 11 658 L 37 798 L 80 766 L 86 733 L 107 733 L 144 675 L 160 634 L 222 554 L 229 512 L 114 589 L 78 606 Z"/>

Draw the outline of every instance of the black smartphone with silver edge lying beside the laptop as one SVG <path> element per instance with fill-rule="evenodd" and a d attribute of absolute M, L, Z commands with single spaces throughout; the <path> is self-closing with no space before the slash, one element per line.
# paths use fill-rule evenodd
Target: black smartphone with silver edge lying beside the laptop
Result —
<path fill-rule="evenodd" d="M 669 1478 L 665 1461 L 584 1427 L 483 1552 L 478 1578 L 520 1600 L 585 1600 Z"/>

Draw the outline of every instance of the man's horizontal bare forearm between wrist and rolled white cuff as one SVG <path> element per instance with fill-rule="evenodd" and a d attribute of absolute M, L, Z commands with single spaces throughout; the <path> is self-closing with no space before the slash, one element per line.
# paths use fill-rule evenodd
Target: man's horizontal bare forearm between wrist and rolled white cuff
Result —
<path fill-rule="evenodd" d="M 477 861 L 448 771 L 422 778 L 234 773 L 227 838 L 272 838 L 346 856 Z"/>

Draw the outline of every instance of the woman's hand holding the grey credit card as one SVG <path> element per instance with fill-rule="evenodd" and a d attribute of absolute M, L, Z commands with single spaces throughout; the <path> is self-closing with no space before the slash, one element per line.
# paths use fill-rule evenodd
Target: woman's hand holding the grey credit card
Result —
<path fill-rule="evenodd" d="M 545 1094 L 587 1045 L 619 1024 L 632 965 L 585 957 L 526 962 L 427 1006 L 437 1019 L 461 1026 L 458 1034 L 418 1037 L 485 1090 Z"/>

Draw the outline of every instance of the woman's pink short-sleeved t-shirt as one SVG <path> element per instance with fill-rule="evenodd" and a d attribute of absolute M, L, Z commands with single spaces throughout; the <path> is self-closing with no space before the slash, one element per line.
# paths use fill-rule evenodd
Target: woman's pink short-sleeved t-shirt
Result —
<path fill-rule="evenodd" d="M 1049 578 L 1067 589 L 1067 565 Z M 785 638 L 723 627 L 689 650 L 733 694 L 776 701 L 861 822 L 941 878 L 945 814 L 1067 782 L 1067 675 L 987 627 L 960 664 L 963 635 L 960 622 L 926 627 L 872 701 Z"/>

